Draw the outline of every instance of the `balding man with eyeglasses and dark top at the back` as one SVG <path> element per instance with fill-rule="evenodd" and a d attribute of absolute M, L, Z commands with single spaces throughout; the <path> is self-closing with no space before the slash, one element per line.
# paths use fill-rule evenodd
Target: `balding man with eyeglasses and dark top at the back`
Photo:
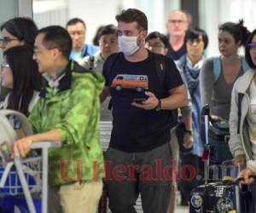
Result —
<path fill-rule="evenodd" d="M 188 16 L 185 12 L 174 10 L 169 14 L 166 23 L 169 38 L 167 56 L 172 60 L 178 60 L 182 55 L 186 54 L 184 37 L 188 27 Z"/>

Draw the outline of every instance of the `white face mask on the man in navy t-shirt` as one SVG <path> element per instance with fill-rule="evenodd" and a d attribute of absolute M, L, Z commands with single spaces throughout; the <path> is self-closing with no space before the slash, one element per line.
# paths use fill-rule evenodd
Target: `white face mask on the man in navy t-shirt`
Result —
<path fill-rule="evenodd" d="M 125 55 L 132 55 L 140 48 L 137 37 L 119 36 L 119 48 Z"/>

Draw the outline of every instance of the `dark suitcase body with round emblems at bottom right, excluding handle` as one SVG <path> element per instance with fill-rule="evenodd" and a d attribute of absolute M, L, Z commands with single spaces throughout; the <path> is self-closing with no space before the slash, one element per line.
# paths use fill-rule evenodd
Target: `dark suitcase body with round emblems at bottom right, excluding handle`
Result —
<path fill-rule="evenodd" d="M 223 181 L 196 187 L 189 213 L 253 213 L 253 199 L 247 185 L 226 185 Z"/>

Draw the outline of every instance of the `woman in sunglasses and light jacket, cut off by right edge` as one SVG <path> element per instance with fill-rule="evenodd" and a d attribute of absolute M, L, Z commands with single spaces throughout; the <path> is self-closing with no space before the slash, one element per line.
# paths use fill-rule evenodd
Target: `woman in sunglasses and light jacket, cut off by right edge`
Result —
<path fill-rule="evenodd" d="M 235 164 L 247 164 L 239 176 L 250 184 L 256 175 L 256 30 L 247 40 L 245 57 L 250 70 L 236 80 L 230 110 L 230 151 Z M 241 161 L 243 159 L 243 161 Z M 252 186 L 256 201 L 256 185 Z"/>

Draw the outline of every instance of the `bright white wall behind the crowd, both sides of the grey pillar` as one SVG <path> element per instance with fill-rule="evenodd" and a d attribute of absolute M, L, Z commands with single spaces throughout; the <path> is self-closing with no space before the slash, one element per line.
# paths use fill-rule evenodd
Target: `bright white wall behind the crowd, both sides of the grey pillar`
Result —
<path fill-rule="evenodd" d="M 188 0 L 189 1 L 189 0 Z M 82 18 L 87 24 L 86 42 L 91 43 L 98 26 L 114 24 L 121 9 L 137 8 L 148 17 L 148 32 L 166 32 L 167 14 L 180 9 L 180 0 L 33 0 L 39 27 L 65 26 L 68 19 Z M 256 0 L 199 0 L 200 26 L 207 31 L 207 55 L 218 55 L 218 25 L 243 18 L 250 30 L 256 27 Z"/>

